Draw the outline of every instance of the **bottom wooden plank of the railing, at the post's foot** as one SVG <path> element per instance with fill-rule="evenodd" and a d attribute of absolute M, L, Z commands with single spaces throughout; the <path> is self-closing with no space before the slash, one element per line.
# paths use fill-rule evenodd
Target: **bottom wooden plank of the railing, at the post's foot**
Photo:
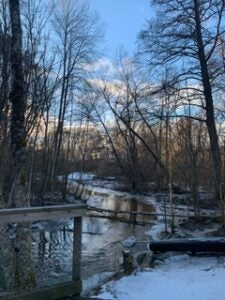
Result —
<path fill-rule="evenodd" d="M 25 292 L 17 295 L 0 294 L 1 300 L 56 300 L 68 296 L 79 295 L 81 293 L 81 280 L 70 281 L 62 284 L 57 284 L 52 287 L 44 287 L 33 289 L 30 292 Z"/>

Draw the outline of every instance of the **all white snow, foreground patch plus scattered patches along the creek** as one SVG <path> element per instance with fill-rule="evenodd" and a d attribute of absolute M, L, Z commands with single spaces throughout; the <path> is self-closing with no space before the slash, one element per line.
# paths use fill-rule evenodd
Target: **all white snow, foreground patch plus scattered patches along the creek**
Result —
<path fill-rule="evenodd" d="M 86 180 L 92 180 L 93 174 L 85 175 Z M 80 173 L 71 176 L 73 180 L 80 179 Z M 90 186 L 95 193 L 111 193 L 114 196 L 126 196 L 128 193 L 110 191 L 112 183 Z M 96 195 L 99 198 L 99 195 Z M 135 195 L 138 198 L 138 195 Z M 160 203 L 154 197 L 143 197 L 142 201 L 154 205 L 158 213 L 162 213 Z M 95 199 L 96 200 L 96 199 Z M 92 197 L 93 201 L 93 197 Z M 179 207 L 179 214 L 185 212 L 186 207 Z M 209 212 L 209 211 L 208 211 Z M 159 217 L 155 224 L 147 230 L 150 239 L 160 239 L 160 233 L 165 230 L 163 218 Z M 180 229 L 181 230 L 181 229 Z M 204 230 L 184 231 L 185 236 L 207 236 L 215 230 L 215 224 L 206 226 Z M 111 281 L 102 286 L 100 292 L 92 298 L 111 300 L 224 300 L 225 299 L 225 257 L 189 256 L 187 254 L 164 254 L 156 256 L 154 267 L 135 271 L 117 281 Z M 98 276 L 95 278 L 98 281 Z"/>

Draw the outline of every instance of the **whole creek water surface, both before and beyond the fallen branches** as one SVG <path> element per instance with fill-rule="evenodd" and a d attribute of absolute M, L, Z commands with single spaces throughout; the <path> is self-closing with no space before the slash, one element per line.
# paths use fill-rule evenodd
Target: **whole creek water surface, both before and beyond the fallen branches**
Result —
<path fill-rule="evenodd" d="M 134 196 L 98 193 L 90 195 L 91 205 L 104 209 L 151 212 L 150 203 L 140 202 Z M 138 220 L 146 216 L 138 216 Z M 123 220 L 123 222 L 121 222 Z M 122 269 L 121 241 L 135 236 L 137 242 L 147 242 L 145 232 L 149 224 L 138 225 L 130 221 L 129 214 L 118 215 L 117 220 L 84 217 L 82 223 L 82 262 L 81 276 L 83 289 L 88 291 L 100 285 L 107 277 Z M 42 221 L 32 225 L 33 259 L 37 273 L 38 286 L 52 285 L 71 279 L 73 220 Z"/>

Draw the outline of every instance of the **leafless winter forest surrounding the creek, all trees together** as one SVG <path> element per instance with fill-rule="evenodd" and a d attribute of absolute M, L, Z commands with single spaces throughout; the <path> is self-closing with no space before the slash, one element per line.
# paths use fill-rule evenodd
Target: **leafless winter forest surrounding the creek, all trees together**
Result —
<path fill-rule="evenodd" d="M 225 2 L 152 0 L 135 53 L 110 64 L 90 4 L 0 0 L 0 207 L 63 204 L 79 172 L 189 193 L 195 217 L 205 193 L 224 214 Z M 35 286 L 29 228 L 11 245 L 0 225 L 5 289 Z"/>

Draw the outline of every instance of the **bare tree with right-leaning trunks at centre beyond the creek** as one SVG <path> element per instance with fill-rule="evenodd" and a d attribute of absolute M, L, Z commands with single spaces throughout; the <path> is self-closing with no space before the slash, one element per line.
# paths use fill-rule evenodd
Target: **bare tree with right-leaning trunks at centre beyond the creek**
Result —
<path fill-rule="evenodd" d="M 136 189 L 144 182 L 140 161 L 143 147 L 159 167 L 160 173 L 167 176 L 168 172 L 157 151 L 157 137 L 153 129 L 156 117 L 151 111 L 151 105 L 148 105 L 151 102 L 148 96 L 149 85 L 143 81 L 129 58 L 120 57 L 118 71 L 114 76 L 117 79 L 114 82 L 103 78 L 97 87 L 93 83 L 97 97 L 93 108 L 106 132 L 118 166 L 133 189 Z M 102 111 L 103 107 L 105 111 Z M 104 120 L 105 115 L 110 115 L 110 128 L 107 126 L 107 118 Z M 145 169 L 148 169 L 146 164 Z M 149 165 L 149 174 L 150 169 Z M 145 177 L 145 180 L 149 178 Z"/>

